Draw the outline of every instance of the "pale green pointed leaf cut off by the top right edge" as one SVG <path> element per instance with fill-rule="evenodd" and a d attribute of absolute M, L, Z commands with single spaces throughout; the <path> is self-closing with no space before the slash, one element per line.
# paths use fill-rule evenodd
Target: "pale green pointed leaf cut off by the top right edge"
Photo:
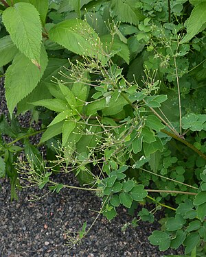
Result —
<path fill-rule="evenodd" d="M 200 33 L 205 27 L 206 23 L 206 2 L 198 3 L 195 5 L 190 17 L 187 21 L 187 34 L 181 41 L 182 43 L 188 42 L 196 34 Z"/>

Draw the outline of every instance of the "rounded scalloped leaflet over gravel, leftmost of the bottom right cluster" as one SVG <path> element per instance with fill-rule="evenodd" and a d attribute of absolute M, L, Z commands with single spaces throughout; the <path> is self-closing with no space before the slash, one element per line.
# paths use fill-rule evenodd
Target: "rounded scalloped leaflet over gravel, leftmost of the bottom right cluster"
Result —
<path fill-rule="evenodd" d="M 148 239 L 152 245 L 159 245 L 160 251 L 165 251 L 170 247 L 170 236 L 165 232 L 154 231 Z"/>

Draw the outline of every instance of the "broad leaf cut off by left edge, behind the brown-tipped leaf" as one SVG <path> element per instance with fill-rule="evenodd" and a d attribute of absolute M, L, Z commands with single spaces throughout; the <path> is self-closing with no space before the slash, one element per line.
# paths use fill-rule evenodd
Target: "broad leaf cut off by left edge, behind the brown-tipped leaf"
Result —
<path fill-rule="evenodd" d="M 11 62 L 16 53 L 18 53 L 18 49 L 15 47 L 10 36 L 0 38 L 0 67 Z"/>

